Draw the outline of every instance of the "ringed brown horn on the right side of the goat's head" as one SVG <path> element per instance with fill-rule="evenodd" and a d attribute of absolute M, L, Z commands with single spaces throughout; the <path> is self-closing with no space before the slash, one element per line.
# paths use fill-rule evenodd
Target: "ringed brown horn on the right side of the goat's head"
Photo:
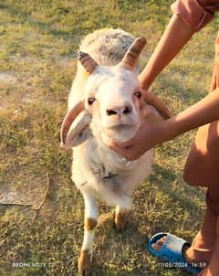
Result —
<path fill-rule="evenodd" d="M 134 69 L 137 59 L 139 58 L 145 44 L 145 37 L 136 38 L 134 42 L 130 45 L 130 48 L 127 50 L 124 58 L 122 58 L 119 66 L 130 70 Z"/>

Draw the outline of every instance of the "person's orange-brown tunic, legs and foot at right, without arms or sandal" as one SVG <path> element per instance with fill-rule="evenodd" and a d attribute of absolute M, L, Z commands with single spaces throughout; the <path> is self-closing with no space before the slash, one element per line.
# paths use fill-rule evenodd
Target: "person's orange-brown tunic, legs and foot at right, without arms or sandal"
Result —
<path fill-rule="evenodd" d="M 219 87 L 219 32 L 215 43 L 214 73 L 210 91 Z M 219 122 L 204 125 L 196 134 L 195 142 L 184 167 L 183 179 L 193 186 L 207 186 L 206 211 L 203 226 L 193 239 L 190 248 L 183 249 L 183 256 L 189 263 L 208 263 L 200 276 L 219 275 Z M 219 220 L 219 219 L 218 219 Z M 217 223 L 216 223 L 217 222 Z M 217 235 L 216 235 L 217 231 Z M 165 237 L 152 245 L 162 249 Z M 215 243 L 217 245 L 215 246 Z M 216 261 L 217 260 L 217 261 Z"/>

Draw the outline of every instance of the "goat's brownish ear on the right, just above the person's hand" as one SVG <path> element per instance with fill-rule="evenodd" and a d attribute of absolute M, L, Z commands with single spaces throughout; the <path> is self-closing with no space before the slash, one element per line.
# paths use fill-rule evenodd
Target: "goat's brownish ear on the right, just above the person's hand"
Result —
<path fill-rule="evenodd" d="M 163 119 L 166 120 L 172 117 L 171 111 L 169 111 L 166 105 L 157 96 L 146 90 L 142 92 L 142 95 L 143 99 L 148 104 L 152 105 L 157 111 L 159 111 Z"/>

